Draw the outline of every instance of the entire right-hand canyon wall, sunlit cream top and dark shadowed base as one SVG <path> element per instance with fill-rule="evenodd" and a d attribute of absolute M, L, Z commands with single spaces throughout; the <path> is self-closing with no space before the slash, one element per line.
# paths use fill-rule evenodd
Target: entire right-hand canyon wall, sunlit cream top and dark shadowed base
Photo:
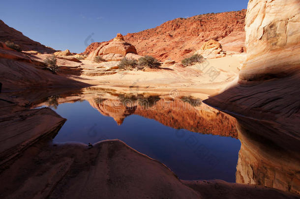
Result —
<path fill-rule="evenodd" d="M 247 57 L 239 83 L 205 103 L 230 114 L 298 124 L 299 27 L 300 0 L 250 0 L 245 28 Z M 299 128 L 286 126 L 289 135 L 299 139 Z"/>

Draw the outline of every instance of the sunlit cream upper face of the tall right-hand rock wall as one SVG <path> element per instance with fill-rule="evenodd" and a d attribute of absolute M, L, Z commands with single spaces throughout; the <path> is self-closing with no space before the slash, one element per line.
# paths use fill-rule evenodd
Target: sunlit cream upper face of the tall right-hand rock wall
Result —
<path fill-rule="evenodd" d="M 300 0 L 250 0 L 247 58 L 240 80 L 282 77 L 300 69 Z"/>

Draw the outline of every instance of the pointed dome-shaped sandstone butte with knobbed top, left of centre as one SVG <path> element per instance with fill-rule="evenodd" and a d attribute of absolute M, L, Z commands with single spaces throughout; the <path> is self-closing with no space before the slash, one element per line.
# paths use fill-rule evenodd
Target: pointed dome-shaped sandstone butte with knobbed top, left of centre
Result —
<path fill-rule="evenodd" d="M 119 61 L 128 53 L 137 54 L 137 51 L 133 45 L 125 42 L 123 36 L 118 33 L 113 41 L 102 43 L 91 52 L 88 59 L 93 60 L 94 57 L 101 56 L 106 61 Z"/>

